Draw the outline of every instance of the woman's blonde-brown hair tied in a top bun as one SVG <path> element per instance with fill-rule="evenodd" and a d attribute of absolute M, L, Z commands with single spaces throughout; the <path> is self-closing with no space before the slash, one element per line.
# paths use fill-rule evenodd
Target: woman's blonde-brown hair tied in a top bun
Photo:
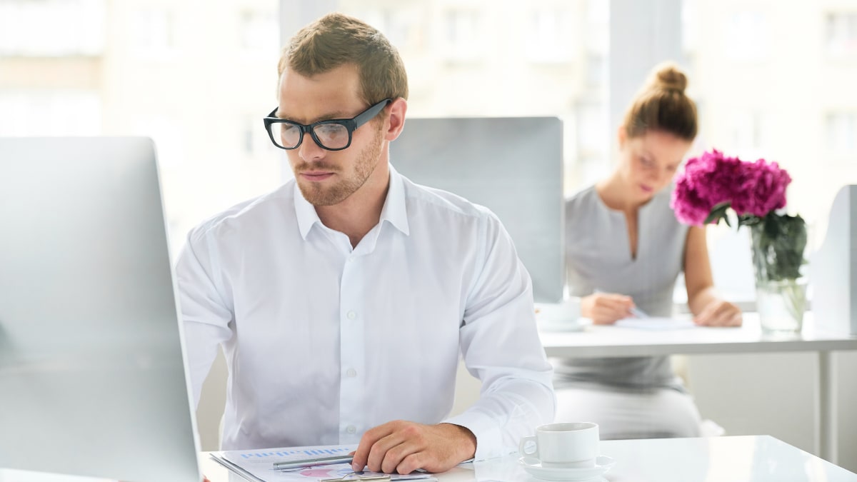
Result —
<path fill-rule="evenodd" d="M 698 130 L 696 104 L 686 96 L 687 76 L 674 63 L 662 63 L 652 69 L 649 81 L 625 114 L 628 137 L 644 136 L 649 130 L 662 130 L 692 141 Z"/>

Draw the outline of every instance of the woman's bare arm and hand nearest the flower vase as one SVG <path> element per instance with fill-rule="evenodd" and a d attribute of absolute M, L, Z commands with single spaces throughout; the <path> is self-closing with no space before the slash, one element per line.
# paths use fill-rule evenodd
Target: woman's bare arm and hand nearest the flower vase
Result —
<path fill-rule="evenodd" d="M 685 286 L 694 322 L 707 326 L 740 326 L 738 307 L 720 298 L 714 289 L 704 227 L 691 226 L 687 230 Z"/>

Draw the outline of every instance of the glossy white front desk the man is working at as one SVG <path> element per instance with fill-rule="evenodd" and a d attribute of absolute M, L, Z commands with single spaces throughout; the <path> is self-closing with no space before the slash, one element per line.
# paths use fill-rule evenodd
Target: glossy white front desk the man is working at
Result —
<path fill-rule="evenodd" d="M 857 474 L 774 437 L 609 440 L 602 455 L 615 461 L 608 482 L 857 482 Z M 202 454 L 212 482 L 246 482 Z M 518 466 L 518 457 L 463 464 L 437 475 L 439 482 L 540 482 Z M 315 482 L 315 479 L 307 479 Z M 0 482 L 103 482 L 45 473 L 0 470 Z"/>

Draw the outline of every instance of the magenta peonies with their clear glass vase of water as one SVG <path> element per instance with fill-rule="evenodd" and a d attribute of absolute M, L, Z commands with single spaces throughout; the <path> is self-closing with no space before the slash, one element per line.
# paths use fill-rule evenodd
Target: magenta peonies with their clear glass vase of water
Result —
<path fill-rule="evenodd" d="M 687 161 L 676 180 L 670 206 L 692 226 L 749 226 L 756 275 L 757 310 L 763 328 L 799 331 L 806 307 L 806 222 L 782 212 L 792 178 L 776 162 L 746 162 L 717 150 Z"/>

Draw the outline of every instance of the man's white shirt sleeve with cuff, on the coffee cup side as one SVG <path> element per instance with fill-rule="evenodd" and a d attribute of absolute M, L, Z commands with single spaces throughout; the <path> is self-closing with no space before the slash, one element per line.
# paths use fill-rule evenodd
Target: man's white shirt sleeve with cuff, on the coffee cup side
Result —
<path fill-rule="evenodd" d="M 480 232 L 484 246 L 460 328 L 464 365 L 482 381 L 479 400 L 446 423 L 476 436 L 476 460 L 518 450 L 521 437 L 553 421 L 553 369 L 536 330 L 530 275 L 500 220 L 491 214 Z"/>

